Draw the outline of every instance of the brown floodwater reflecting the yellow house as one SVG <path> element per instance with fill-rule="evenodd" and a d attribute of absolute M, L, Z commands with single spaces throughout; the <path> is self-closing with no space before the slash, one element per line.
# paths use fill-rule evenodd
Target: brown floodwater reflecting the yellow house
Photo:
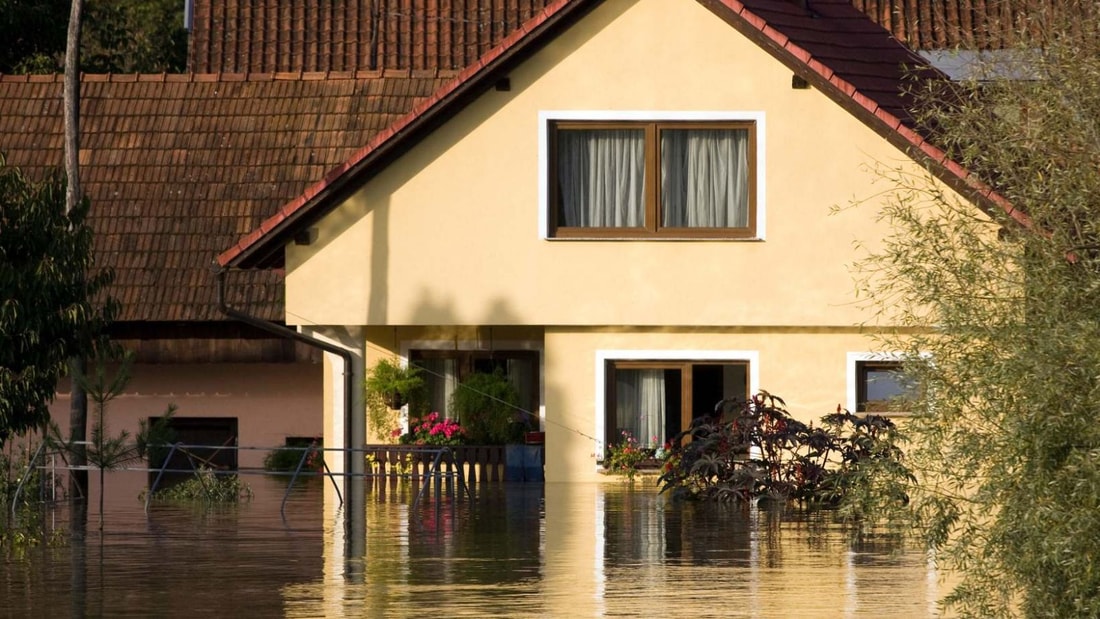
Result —
<path fill-rule="evenodd" d="M 651 482 L 416 508 L 403 485 L 352 510 L 312 479 L 284 518 L 285 478 L 245 480 L 251 501 L 146 515 L 144 477 L 112 473 L 102 533 L 94 496 L 84 541 L 0 559 L 0 617 L 915 618 L 943 595 L 919 551 L 853 544 L 821 516 L 673 502 Z"/>

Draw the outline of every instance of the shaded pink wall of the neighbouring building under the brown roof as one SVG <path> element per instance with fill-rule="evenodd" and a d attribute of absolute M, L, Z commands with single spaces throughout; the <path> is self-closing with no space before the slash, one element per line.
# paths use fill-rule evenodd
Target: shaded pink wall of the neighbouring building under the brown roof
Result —
<path fill-rule="evenodd" d="M 162 414 L 169 404 L 177 417 L 237 417 L 239 445 L 274 447 L 286 436 L 320 436 L 322 366 L 309 363 L 139 364 L 127 393 L 111 401 L 107 428 L 138 432 L 138 421 Z M 50 407 L 68 436 L 69 383 L 58 386 Z M 88 428 L 95 407 L 89 402 Z M 266 451 L 243 450 L 241 467 L 263 465 Z"/>

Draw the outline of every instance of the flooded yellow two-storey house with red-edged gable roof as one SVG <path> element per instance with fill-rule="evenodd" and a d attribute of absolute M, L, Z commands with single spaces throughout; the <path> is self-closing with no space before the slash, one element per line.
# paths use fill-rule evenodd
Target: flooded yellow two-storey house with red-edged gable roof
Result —
<path fill-rule="evenodd" d="M 440 407 L 506 369 L 550 482 L 759 389 L 873 407 L 889 325 L 849 272 L 886 232 L 871 168 L 997 208 L 914 126 L 911 75 L 942 77 L 846 0 L 549 2 L 218 262 L 284 269 L 287 325 L 345 351 L 330 445 L 367 435 L 338 377 L 394 356 Z"/>

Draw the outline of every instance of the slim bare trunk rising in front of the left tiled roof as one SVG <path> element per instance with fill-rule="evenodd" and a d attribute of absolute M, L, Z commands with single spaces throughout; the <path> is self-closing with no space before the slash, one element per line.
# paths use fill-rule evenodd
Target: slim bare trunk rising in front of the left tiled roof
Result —
<path fill-rule="evenodd" d="M 65 212 L 69 213 L 80 201 L 80 23 L 84 12 L 84 0 L 73 0 L 69 11 L 68 37 L 65 43 Z M 74 466 L 84 466 L 88 462 L 82 442 L 88 438 L 88 396 L 75 379 L 76 374 L 84 373 L 86 362 L 82 357 L 69 360 L 69 376 L 74 377 L 72 400 L 69 402 L 69 440 L 79 441 L 73 452 Z M 84 521 L 87 515 L 88 472 L 73 471 L 69 477 L 69 494 L 79 506 L 74 510 L 74 523 Z M 80 518 L 79 516 L 84 516 Z M 82 524 L 82 522 L 80 522 Z M 81 527 L 82 529 L 82 527 Z"/>

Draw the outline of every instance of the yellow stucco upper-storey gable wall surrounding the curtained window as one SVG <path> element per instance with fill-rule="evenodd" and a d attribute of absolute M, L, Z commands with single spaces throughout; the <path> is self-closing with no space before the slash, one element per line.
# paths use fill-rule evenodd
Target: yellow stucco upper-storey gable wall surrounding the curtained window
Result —
<path fill-rule="evenodd" d="M 288 247 L 288 322 L 861 320 L 848 264 L 881 234 L 875 209 L 831 209 L 880 191 L 867 166 L 903 157 L 705 8 L 605 2 L 509 77 Z M 539 113 L 576 110 L 762 112 L 766 240 L 540 239 Z"/>

